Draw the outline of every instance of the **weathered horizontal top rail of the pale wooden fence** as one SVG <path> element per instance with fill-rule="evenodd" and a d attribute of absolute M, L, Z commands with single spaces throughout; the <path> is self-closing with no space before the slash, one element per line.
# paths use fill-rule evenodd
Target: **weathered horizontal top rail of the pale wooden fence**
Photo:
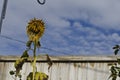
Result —
<path fill-rule="evenodd" d="M 20 56 L 0 56 L 0 62 L 15 62 Z M 53 63 L 112 63 L 120 56 L 50 56 Z M 26 62 L 31 62 L 32 57 Z M 38 56 L 37 62 L 47 63 L 46 56 Z"/>

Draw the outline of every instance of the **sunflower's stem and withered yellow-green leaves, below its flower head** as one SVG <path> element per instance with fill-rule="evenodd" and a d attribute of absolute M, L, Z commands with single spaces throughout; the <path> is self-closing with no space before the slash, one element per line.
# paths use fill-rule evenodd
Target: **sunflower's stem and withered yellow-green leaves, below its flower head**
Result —
<path fill-rule="evenodd" d="M 22 80 L 21 79 L 22 75 L 21 75 L 20 71 L 22 70 L 22 67 L 23 67 L 24 63 L 29 58 L 28 51 L 33 50 L 33 53 L 35 54 L 36 53 L 36 47 L 41 46 L 40 42 L 38 41 L 37 44 L 34 44 L 34 46 L 36 46 L 36 47 L 34 47 L 34 49 L 31 49 L 31 44 L 32 43 L 33 43 L 32 41 L 27 42 L 27 44 L 26 44 L 26 46 L 28 47 L 27 50 L 25 50 L 23 52 L 22 56 L 18 60 L 16 60 L 15 63 L 14 63 L 15 71 L 12 70 L 12 71 L 9 72 L 10 75 L 14 75 L 15 77 L 20 78 L 20 80 Z M 53 63 L 52 63 L 52 60 L 50 59 L 49 55 L 46 55 L 46 57 L 47 57 L 48 65 L 49 65 L 49 67 L 48 67 L 48 70 L 49 70 L 49 68 L 52 66 Z M 48 75 L 46 75 L 45 73 L 36 71 L 36 68 L 37 68 L 36 67 L 36 55 L 34 56 L 34 60 L 33 60 L 33 62 L 31 62 L 31 64 L 33 66 L 33 72 L 29 73 L 29 75 L 27 76 L 27 80 L 33 80 L 33 79 L 35 79 L 35 80 L 48 80 Z M 34 77 L 33 77 L 33 75 L 34 75 Z"/>

